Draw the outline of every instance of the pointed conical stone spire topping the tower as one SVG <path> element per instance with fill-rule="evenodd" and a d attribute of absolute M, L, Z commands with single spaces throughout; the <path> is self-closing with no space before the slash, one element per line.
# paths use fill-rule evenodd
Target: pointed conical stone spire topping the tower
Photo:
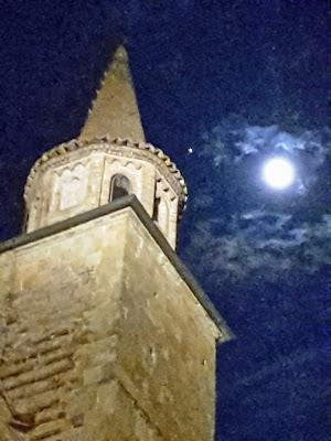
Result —
<path fill-rule="evenodd" d="M 93 139 L 109 135 L 145 141 L 127 51 L 118 46 L 79 135 Z"/>

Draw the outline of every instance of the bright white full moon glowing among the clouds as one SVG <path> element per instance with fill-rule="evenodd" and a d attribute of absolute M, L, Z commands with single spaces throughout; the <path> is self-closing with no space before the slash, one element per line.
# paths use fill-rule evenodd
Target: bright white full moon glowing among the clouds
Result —
<path fill-rule="evenodd" d="M 295 175 L 296 172 L 292 164 L 285 158 L 273 158 L 265 163 L 263 169 L 265 182 L 276 190 L 282 190 L 291 185 Z"/>

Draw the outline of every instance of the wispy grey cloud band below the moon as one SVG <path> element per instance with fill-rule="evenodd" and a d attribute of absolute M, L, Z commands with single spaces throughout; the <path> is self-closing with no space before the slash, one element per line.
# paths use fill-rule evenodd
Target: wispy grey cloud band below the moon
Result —
<path fill-rule="evenodd" d="M 185 250 L 185 258 L 214 286 L 252 278 L 296 283 L 300 276 L 331 266 L 331 215 L 314 224 L 291 225 L 289 215 L 247 212 L 232 216 L 224 234 L 215 233 L 218 222 L 197 222 Z"/>

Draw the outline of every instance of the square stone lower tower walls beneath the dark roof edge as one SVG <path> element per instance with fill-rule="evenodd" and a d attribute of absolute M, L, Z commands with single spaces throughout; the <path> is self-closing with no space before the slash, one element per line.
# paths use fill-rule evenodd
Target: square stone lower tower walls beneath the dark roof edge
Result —
<path fill-rule="evenodd" d="M 131 208 L 0 255 L 1 441 L 210 441 L 216 326 Z"/>

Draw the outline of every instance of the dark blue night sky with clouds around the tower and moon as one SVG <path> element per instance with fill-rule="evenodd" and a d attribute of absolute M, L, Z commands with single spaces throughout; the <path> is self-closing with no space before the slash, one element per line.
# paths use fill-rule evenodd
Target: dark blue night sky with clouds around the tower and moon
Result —
<path fill-rule="evenodd" d="M 179 254 L 236 335 L 218 351 L 216 440 L 327 440 L 330 3 L 0 3 L 0 239 L 125 40 L 147 139 L 188 181 Z M 274 155 L 296 166 L 287 190 L 260 179 Z"/>

